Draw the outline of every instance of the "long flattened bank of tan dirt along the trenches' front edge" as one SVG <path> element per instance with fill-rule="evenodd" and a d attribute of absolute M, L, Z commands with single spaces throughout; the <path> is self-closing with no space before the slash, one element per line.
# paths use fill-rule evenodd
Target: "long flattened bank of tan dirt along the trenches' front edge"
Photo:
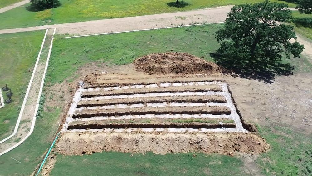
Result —
<path fill-rule="evenodd" d="M 56 144 L 63 155 L 102 151 L 166 153 L 265 153 L 268 144 L 255 133 L 105 133 L 64 132 Z"/>

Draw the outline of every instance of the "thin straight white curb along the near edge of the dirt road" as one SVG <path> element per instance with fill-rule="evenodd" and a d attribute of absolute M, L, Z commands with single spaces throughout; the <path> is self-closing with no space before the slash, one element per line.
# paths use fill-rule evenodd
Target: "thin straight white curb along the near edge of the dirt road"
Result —
<path fill-rule="evenodd" d="M 206 24 L 218 24 L 218 23 L 224 23 L 224 22 L 202 23 L 202 24 L 190 24 L 190 25 L 181 25 L 181 26 L 169 26 L 169 27 L 163 27 L 163 28 L 150 28 L 150 29 L 138 29 L 138 30 L 120 31 L 120 32 L 111 32 L 111 33 L 99 33 L 99 34 L 78 35 L 78 36 L 71 36 L 71 37 L 61 37 L 61 38 L 56 38 L 56 39 L 62 39 L 62 38 L 76 38 L 76 37 L 87 37 L 87 36 L 107 35 L 107 34 L 117 34 L 117 33 L 129 33 L 129 32 L 137 32 L 137 31 L 150 31 L 150 30 L 155 30 L 155 29 L 179 28 L 179 27 L 198 26 L 198 25 L 206 25 Z"/>

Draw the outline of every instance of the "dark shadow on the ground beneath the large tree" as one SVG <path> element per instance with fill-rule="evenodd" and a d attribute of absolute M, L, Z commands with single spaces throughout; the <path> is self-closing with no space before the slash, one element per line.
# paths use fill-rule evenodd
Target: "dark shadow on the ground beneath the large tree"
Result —
<path fill-rule="evenodd" d="M 273 83 L 275 76 L 293 75 L 293 70 L 295 69 L 289 63 L 284 64 L 280 62 L 271 64 L 270 67 L 233 67 L 232 63 L 227 62 L 229 59 L 223 58 L 217 52 L 210 53 L 210 56 L 218 65 L 226 69 L 224 74 L 231 75 L 232 77 L 255 79 L 264 83 Z"/>

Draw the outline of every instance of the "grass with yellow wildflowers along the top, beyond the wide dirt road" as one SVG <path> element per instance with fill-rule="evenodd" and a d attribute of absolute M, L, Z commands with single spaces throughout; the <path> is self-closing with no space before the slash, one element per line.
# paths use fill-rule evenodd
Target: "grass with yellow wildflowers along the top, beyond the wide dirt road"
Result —
<path fill-rule="evenodd" d="M 175 0 L 60 0 L 61 6 L 38 12 L 29 10 L 29 3 L 5 13 L 0 13 L 0 29 L 168 13 L 229 4 L 256 3 L 262 2 L 263 0 L 184 0 L 184 2 L 189 5 L 181 8 L 167 5 L 167 3 L 174 1 Z M 295 7 L 295 4 L 288 4 L 291 7 Z"/>

